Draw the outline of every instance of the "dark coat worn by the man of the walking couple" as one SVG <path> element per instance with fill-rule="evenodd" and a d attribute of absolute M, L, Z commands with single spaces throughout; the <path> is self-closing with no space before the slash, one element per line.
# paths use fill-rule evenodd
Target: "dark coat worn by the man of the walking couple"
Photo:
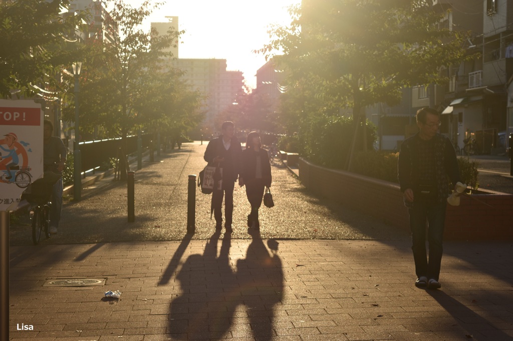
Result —
<path fill-rule="evenodd" d="M 236 137 L 232 137 L 230 143 L 230 149 L 226 151 L 223 144 L 223 135 L 210 140 L 203 159 L 210 165 L 214 165 L 214 158 L 218 156 L 229 159 L 219 164 L 223 168 L 223 180 L 237 181 L 240 173 L 242 146 Z"/>

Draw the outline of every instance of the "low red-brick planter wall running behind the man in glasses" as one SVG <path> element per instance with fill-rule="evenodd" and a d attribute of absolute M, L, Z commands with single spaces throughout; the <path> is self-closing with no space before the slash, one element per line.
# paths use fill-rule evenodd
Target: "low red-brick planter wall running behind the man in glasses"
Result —
<path fill-rule="evenodd" d="M 398 184 L 337 171 L 299 159 L 301 182 L 313 193 L 366 212 L 409 230 L 408 210 Z M 447 208 L 445 238 L 452 240 L 513 240 L 513 195 L 488 192 L 468 197 Z"/>

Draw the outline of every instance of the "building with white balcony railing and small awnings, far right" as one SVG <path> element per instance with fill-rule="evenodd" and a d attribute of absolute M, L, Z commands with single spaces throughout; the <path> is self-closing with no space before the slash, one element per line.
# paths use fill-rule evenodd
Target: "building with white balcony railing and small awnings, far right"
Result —
<path fill-rule="evenodd" d="M 513 74 L 513 2 L 482 0 L 467 5 L 471 3 L 481 6 L 483 19 L 481 34 L 478 27 L 471 27 L 474 38 L 468 48 L 480 56 L 462 63 L 451 75 L 446 93 L 450 103 L 442 116 L 453 143 L 463 147 L 471 137 L 481 153 L 501 153 L 505 150 L 499 133 L 506 130 L 506 84 Z M 463 14 L 470 17 L 469 12 Z"/>

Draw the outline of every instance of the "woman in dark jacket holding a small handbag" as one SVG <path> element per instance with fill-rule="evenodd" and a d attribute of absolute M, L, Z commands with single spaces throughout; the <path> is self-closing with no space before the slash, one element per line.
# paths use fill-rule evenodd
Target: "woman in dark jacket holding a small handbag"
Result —
<path fill-rule="evenodd" d="M 260 230 L 258 219 L 259 208 L 262 206 L 265 187 L 271 187 L 271 164 L 267 151 L 262 149 L 262 141 L 257 132 L 248 134 L 246 149 L 242 152 L 241 174 L 239 185 L 246 186 L 246 196 L 251 205 L 248 215 L 248 227 Z"/>

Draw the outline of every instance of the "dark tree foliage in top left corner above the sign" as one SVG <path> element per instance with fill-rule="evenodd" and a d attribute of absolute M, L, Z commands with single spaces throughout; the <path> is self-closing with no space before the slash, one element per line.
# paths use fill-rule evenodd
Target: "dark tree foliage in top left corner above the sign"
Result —
<path fill-rule="evenodd" d="M 75 55 L 62 49 L 73 44 L 86 13 L 62 16 L 68 0 L 0 2 L 0 96 L 60 96 L 60 74 Z M 70 42 L 71 40 L 71 42 Z"/>

